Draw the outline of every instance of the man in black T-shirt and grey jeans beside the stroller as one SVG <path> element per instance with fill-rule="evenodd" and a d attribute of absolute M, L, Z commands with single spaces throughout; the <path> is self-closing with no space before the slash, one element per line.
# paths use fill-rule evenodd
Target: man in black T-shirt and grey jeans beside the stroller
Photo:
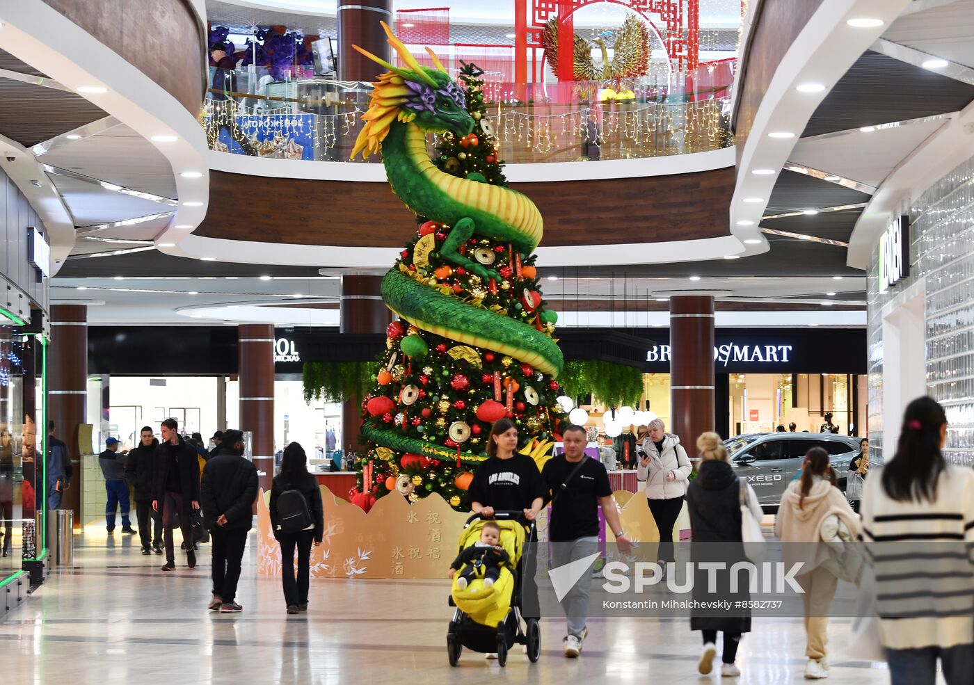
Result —
<path fill-rule="evenodd" d="M 545 499 L 551 501 L 548 538 L 551 545 L 551 568 L 578 559 L 593 557 L 599 550 L 599 505 L 606 525 L 616 536 L 622 554 L 630 550 L 630 541 L 618 521 L 616 501 L 609 485 L 609 474 L 601 463 L 585 456 L 587 435 L 581 426 L 568 426 L 562 431 L 565 453 L 553 456 L 544 464 L 542 479 Z M 563 640 L 565 656 L 575 658 L 588 634 L 588 585 L 585 573 L 562 598 L 561 606 L 568 619 L 568 635 Z"/>

